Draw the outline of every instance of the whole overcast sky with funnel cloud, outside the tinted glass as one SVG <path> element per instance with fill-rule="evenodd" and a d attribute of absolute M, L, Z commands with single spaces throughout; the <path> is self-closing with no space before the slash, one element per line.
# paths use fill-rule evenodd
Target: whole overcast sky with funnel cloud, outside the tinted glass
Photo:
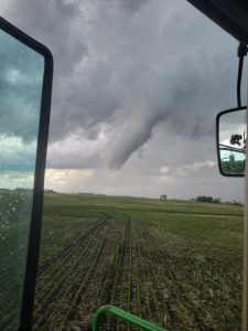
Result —
<path fill-rule="evenodd" d="M 191 4 L 1 0 L 1 15 L 54 56 L 46 188 L 242 200 L 215 147 L 216 114 L 236 106 L 237 41 Z"/>

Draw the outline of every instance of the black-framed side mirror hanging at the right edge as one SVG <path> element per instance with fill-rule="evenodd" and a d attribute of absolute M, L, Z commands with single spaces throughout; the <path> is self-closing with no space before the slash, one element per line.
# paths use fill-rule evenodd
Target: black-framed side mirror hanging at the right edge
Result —
<path fill-rule="evenodd" d="M 244 177 L 246 169 L 247 107 L 220 111 L 216 117 L 216 143 L 219 172 Z"/>

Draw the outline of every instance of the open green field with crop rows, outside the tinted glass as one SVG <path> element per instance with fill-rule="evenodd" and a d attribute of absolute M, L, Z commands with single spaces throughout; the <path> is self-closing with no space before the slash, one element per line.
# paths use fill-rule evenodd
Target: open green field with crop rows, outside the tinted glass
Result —
<path fill-rule="evenodd" d="M 242 212 L 46 194 L 34 330 L 90 330 L 107 303 L 169 330 L 240 330 Z"/>

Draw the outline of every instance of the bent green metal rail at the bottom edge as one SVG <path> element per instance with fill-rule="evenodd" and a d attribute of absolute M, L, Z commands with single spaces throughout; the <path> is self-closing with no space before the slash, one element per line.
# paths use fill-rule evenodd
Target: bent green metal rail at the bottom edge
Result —
<path fill-rule="evenodd" d="M 147 330 L 147 331 L 164 331 L 165 329 L 158 327 L 151 322 L 148 322 L 134 314 L 131 314 L 129 312 L 123 311 L 122 309 L 119 309 L 117 307 L 114 306 L 103 306 L 100 307 L 94 319 L 93 319 L 93 331 L 98 331 L 99 330 L 99 325 L 100 325 L 100 318 L 104 314 L 111 314 L 115 316 L 130 324 L 133 324 L 142 330 Z"/>

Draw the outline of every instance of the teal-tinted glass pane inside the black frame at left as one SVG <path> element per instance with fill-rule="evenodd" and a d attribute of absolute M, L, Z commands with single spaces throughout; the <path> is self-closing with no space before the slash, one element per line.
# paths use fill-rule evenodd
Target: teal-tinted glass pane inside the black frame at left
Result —
<path fill-rule="evenodd" d="M 43 74 L 43 56 L 0 30 L 0 330 L 20 325 Z"/>

